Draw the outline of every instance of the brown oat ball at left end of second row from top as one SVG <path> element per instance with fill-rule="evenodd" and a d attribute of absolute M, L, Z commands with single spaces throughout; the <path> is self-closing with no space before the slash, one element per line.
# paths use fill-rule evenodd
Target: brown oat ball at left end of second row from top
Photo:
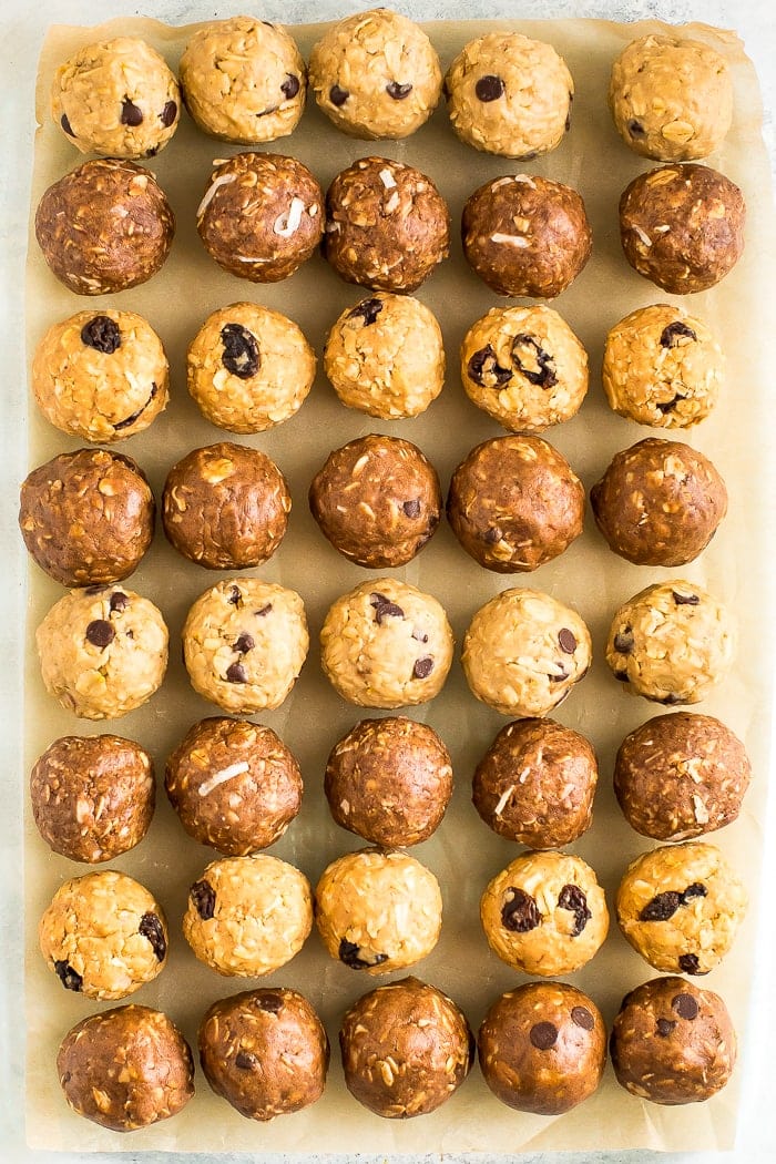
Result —
<path fill-rule="evenodd" d="M 154 175 L 134 162 L 95 158 L 59 178 L 35 212 L 35 237 L 76 294 L 112 294 L 159 270 L 176 229 Z"/>

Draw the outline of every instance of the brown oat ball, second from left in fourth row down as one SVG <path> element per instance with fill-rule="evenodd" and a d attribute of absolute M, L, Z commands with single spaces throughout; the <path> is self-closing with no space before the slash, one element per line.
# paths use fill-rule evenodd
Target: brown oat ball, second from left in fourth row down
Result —
<path fill-rule="evenodd" d="M 170 469 L 162 495 L 168 540 L 211 570 L 268 561 L 283 541 L 290 512 L 291 494 L 277 464 L 232 441 L 192 449 Z"/>

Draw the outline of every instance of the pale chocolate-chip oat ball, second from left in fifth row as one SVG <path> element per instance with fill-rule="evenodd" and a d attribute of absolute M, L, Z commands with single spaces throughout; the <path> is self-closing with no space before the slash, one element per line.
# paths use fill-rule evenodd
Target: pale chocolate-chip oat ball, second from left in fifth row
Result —
<path fill-rule="evenodd" d="M 191 686 L 234 715 L 279 708 L 308 647 L 299 595 L 255 577 L 227 579 L 206 590 L 183 629 Z"/>

